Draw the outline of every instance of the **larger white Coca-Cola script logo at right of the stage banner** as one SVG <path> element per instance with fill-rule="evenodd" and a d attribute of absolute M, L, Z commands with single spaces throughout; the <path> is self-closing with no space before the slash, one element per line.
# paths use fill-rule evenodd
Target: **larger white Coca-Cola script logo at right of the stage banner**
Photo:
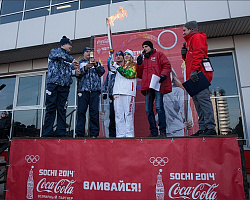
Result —
<path fill-rule="evenodd" d="M 219 184 L 200 183 L 196 187 L 181 187 L 180 183 L 175 183 L 168 191 L 168 196 L 171 199 L 216 199 L 217 192 L 214 191 Z"/>

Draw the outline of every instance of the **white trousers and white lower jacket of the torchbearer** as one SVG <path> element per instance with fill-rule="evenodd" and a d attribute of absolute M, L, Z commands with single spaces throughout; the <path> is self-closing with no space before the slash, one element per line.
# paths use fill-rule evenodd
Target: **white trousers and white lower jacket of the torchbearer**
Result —
<path fill-rule="evenodd" d="M 134 137 L 137 78 L 125 78 L 118 71 L 113 87 L 116 137 Z"/>

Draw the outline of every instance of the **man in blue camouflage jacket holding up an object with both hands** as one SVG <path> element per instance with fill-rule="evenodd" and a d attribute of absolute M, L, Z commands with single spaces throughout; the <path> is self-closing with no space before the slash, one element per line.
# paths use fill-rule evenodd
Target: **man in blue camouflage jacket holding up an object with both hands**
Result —
<path fill-rule="evenodd" d="M 77 137 L 85 136 L 86 112 L 89 106 L 89 135 L 96 138 L 99 135 L 99 98 L 101 93 L 101 76 L 105 69 L 99 62 L 91 60 L 91 49 L 84 47 L 83 59 L 79 61 L 81 74 L 77 76 Z"/>

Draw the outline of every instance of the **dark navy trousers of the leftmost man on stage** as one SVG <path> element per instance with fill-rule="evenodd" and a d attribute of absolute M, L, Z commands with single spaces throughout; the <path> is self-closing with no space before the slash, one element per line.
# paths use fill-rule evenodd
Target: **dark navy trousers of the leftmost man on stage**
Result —
<path fill-rule="evenodd" d="M 57 112 L 57 136 L 66 136 L 66 109 L 69 96 L 69 86 L 49 83 L 46 89 L 46 114 L 43 136 L 53 135 L 53 125 Z"/>

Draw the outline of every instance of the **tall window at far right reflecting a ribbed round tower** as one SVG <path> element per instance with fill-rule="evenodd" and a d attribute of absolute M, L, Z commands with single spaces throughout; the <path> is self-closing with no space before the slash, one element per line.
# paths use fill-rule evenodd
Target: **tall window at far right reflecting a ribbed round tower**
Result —
<path fill-rule="evenodd" d="M 209 87 L 217 132 L 227 134 L 239 123 L 240 103 L 232 53 L 209 55 L 214 77 Z"/>

